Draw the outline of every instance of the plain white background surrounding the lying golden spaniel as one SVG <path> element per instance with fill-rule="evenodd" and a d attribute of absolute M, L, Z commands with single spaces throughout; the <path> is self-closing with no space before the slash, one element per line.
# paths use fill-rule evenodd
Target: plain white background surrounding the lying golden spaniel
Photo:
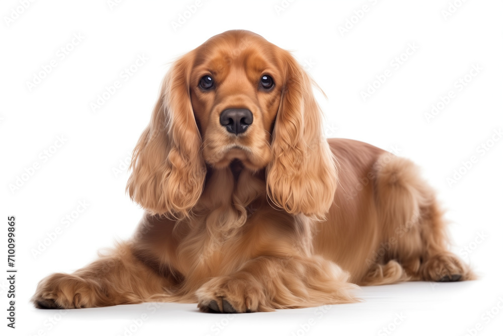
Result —
<path fill-rule="evenodd" d="M 0 8 L 2 260 L 7 217 L 14 215 L 19 270 L 15 330 L 6 326 L 6 276 L 0 280 L 2 334 L 501 334 L 503 141 L 491 143 L 491 137 L 503 127 L 503 4 L 457 0 L 453 13 L 443 13 L 448 0 L 285 0 L 286 8 L 277 7 L 280 0 L 202 0 L 175 30 L 172 22 L 195 0 L 125 0 L 113 7 L 106 0 L 36 1 L 26 9 L 20 3 L 3 1 Z M 364 5 L 368 11 L 360 12 Z M 345 25 L 350 29 L 342 32 Z M 452 221 L 453 251 L 473 265 L 480 280 L 367 287 L 359 293 L 363 303 L 235 316 L 175 303 L 33 308 L 29 299 L 43 277 L 72 272 L 93 260 L 98 249 L 132 234 L 142 211 L 124 192 L 128 173 L 121 162 L 150 118 L 169 62 L 228 29 L 254 31 L 293 51 L 328 97 L 320 96 L 327 136 L 387 150 L 395 146 L 418 163 Z M 418 48 L 402 55 L 408 44 Z M 64 59 L 62 47 L 68 53 Z M 137 55 L 148 60 L 125 81 L 121 73 Z M 391 62 L 400 55 L 406 60 L 395 69 Z M 55 68 L 29 88 L 27 82 L 51 60 Z M 459 91 L 455 82 L 476 64 L 481 70 Z M 391 77 L 364 101 L 361 92 L 386 70 Z M 93 112 L 90 104 L 114 81 L 121 87 Z M 450 90 L 455 97 L 428 122 L 425 113 Z M 51 147 L 61 136 L 64 144 Z M 479 146 L 486 143 L 493 146 L 482 155 Z M 45 158 L 46 150 L 56 151 Z M 447 178 L 471 156 L 476 162 L 449 185 Z M 31 170 L 37 163 L 39 169 Z M 13 191 L 18 177 L 25 181 Z M 79 201 L 89 206 L 77 217 Z M 67 215 L 75 219 L 65 226 L 61 219 Z M 60 234 L 54 233 L 57 227 Z M 34 255 L 37 249 L 43 251 Z M 495 314 L 488 317 L 491 308 Z"/>

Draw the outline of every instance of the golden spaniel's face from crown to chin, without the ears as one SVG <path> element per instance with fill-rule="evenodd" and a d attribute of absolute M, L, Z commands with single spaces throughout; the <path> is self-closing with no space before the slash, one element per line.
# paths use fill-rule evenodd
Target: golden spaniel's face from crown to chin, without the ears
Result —
<path fill-rule="evenodd" d="M 285 73 L 277 49 L 259 35 L 229 32 L 194 50 L 190 99 L 210 166 L 238 159 L 257 170 L 271 161 Z"/>

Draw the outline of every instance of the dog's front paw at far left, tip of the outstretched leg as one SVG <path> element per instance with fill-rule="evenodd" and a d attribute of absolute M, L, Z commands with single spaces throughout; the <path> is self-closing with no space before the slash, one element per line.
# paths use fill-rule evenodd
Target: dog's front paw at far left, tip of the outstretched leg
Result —
<path fill-rule="evenodd" d="M 86 280 L 55 273 L 43 279 L 31 300 L 36 308 L 70 309 L 96 306 L 96 291 Z"/>

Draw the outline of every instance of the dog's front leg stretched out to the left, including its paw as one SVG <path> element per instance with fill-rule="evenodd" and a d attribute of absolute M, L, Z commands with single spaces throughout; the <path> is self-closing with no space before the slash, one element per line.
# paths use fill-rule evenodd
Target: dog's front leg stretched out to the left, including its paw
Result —
<path fill-rule="evenodd" d="M 121 244 L 73 274 L 55 273 L 43 279 L 32 302 L 37 308 L 69 309 L 141 303 L 165 293 L 169 279 Z"/>

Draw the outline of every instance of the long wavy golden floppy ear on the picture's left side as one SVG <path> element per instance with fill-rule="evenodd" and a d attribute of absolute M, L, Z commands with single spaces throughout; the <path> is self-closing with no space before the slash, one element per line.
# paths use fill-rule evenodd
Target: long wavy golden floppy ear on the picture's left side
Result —
<path fill-rule="evenodd" d="M 165 76 L 150 123 L 133 151 L 127 190 L 153 214 L 186 217 L 203 190 L 206 166 L 189 93 L 192 63 L 189 53 Z"/>

